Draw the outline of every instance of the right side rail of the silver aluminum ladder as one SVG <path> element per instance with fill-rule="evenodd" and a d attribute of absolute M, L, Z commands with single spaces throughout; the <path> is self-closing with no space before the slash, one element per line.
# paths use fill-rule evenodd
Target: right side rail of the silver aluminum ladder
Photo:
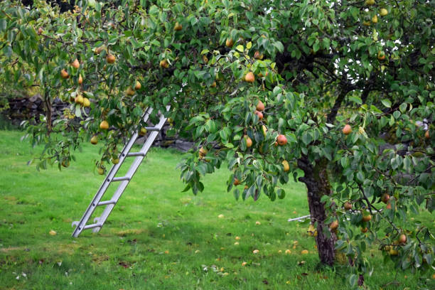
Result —
<path fill-rule="evenodd" d="M 166 106 L 166 110 L 169 110 L 170 106 Z M 159 128 L 159 131 L 163 127 L 163 125 L 166 122 L 166 117 L 162 114 L 159 124 L 156 125 L 156 127 Z M 144 145 L 142 146 L 140 152 L 143 152 L 144 154 L 148 153 L 149 149 L 151 148 L 151 145 L 154 143 L 154 140 L 156 139 L 157 135 L 159 134 L 159 131 L 151 131 L 148 138 L 146 139 Z M 134 173 L 136 173 L 137 168 L 141 165 L 141 162 L 144 160 L 145 156 L 137 156 L 136 159 L 134 159 L 133 163 L 131 164 L 129 171 L 127 171 L 126 176 L 129 176 L 129 180 L 122 181 L 117 190 L 114 192 L 114 195 L 112 196 L 111 200 L 114 200 L 115 203 L 109 204 L 104 208 L 102 214 L 99 218 L 95 218 L 94 222 L 100 224 L 100 227 L 95 227 L 92 229 L 92 232 L 99 232 L 104 225 L 104 222 L 106 222 L 107 218 L 109 217 L 110 213 L 112 213 L 112 210 L 116 203 L 118 202 L 119 198 L 121 198 L 122 193 L 124 193 L 125 188 L 129 185 L 129 182 L 131 181 L 131 178 L 133 178 Z"/>

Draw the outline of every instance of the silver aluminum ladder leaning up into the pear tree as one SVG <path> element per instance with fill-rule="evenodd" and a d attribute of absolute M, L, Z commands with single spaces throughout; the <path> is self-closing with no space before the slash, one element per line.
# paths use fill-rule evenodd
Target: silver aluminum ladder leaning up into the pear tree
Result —
<path fill-rule="evenodd" d="M 170 106 L 166 106 L 166 110 L 168 111 L 169 109 Z M 148 121 L 151 112 L 153 112 L 153 109 L 148 108 L 145 110 L 144 115 L 141 117 L 141 119 L 145 124 Z M 154 143 L 154 140 L 156 139 L 156 136 L 159 134 L 159 131 L 161 131 L 161 128 L 163 127 L 163 124 L 165 124 L 166 119 L 168 119 L 161 112 L 159 112 L 159 114 L 160 114 L 160 119 L 158 124 L 154 125 L 154 127 L 145 127 L 146 131 L 150 131 L 151 133 L 149 133 L 149 136 L 146 139 L 141 150 L 137 152 L 130 152 L 131 147 L 134 145 L 134 142 L 139 136 L 140 126 L 136 128 L 136 131 L 134 132 L 133 136 L 131 136 L 127 144 L 124 145 L 124 148 L 119 154 L 119 163 L 114 164 L 114 166 L 110 168 L 109 173 L 107 173 L 106 178 L 104 178 L 104 181 L 100 186 L 100 189 L 95 194 L 94 198 L 92 199 L 90 205 L 87 207 L 87 210 L 83 214 L 80 221 L 73 222 L 72 226 L 75 227 L 75 230 L 73 232 L 73 237 L 78 237 L 83 230 L 92 229 L 92 232 L 99 232 L 101 230 L 102 226 L 104 225 L 104 222 L 107 220 L 107 217 L 112 212 L 119 198 L 121 198 L 122 193 L 124 193 L 125 188 L 127 188 L 127 186 L 129 185 L 131 178 L 133 178 L 134 173 L 136 173 L 137 168 L 139 168 L 141 162 L 144 160 L 144 157 L 148 153 L 151 145 Z M 119 168 L 121 168 L 122 163 L 124 163 L 127 157 L 136 157 L 136 159 L 134 159 L 133 163 L 131 163 L 131 166 L 125 176 L 115 177 L 117 171 L 119 170 Z M 110 198 L 110 200 L 101 201 L 104 196 L 104 193 L 106 193 L 107 188 L 109 188 L 110 184 L 118 183 L 118 182 L 119 182 L 119 186 L 117 190 L 114 192 L 112 198 Z M 102 215 L 100 215 L 100 217 L 98 218 L 95 218 L 94 223 L 87 225 L 87 222 L 92 216 L 92 213 L 94 213 L 95 209 L 99 206 L 104 206 L 104 205 L 106 206 L 106 208 L 104 208 Z"/>

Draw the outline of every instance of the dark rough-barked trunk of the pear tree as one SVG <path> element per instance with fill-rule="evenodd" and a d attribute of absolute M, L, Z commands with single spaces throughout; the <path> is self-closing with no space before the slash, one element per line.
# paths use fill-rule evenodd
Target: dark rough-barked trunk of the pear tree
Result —
<path fill-rule="evenodd" d="M 326 213 L 323 203 L 321 203 L 323 195 L 331 194 L 328 172 L 326 171 L 327 164 L 326 159 L 318 161 L 315 166 L 312 166 L 306 157 L 298 160 L 299 168 L 304 171 L 304 177 L 299 178 L 299 181 L 306 184 L 311 221 L 317 222 L 316 244 L 318 257 L 321 263 L 332 265 L 335 261 L 334 246 L 337 237 L 335 232 L 331 232 L 328 225 L 324 223 Z M 327 232 L 330 232 L 330 235 L 326 235 Z"/>

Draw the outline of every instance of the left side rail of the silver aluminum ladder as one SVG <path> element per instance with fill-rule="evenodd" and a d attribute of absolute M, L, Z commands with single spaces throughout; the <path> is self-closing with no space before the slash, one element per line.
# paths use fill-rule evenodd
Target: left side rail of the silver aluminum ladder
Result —
<path fill-rule="evenodd" d="M 142 119 L 144 122 L 148 121 L 149 116 L 153 109 L 150 107 L 146 109 L 146 112 L 144 112 L 144 115 Z M 129 153 L 131 147 L 134 145 L 134 142 L 136 141 L 137 137 L 139 136 L 138 132 L 136 131 L 133 136 L 131 136 L 129 142 L 124 145 L 124 148 L 121 151 L 121 154 L 119 154 L 119 163 L 114 164 L 112 168 L 110 168 L 109 173 L 107 174 L 106 178 L 104 178 L 104 181 L 102 182 L 100 188 L 98 189 L 97 193 L 94 195 L 94 198 L 92 198 L 92 202 L 90 205 L 88 205 L 87 209 L 85 210 L 85 213 L 83 213 L 82 218 L 80 219 L 80 222 L 73 222 L 73 226 L 76 225 L 73 237 L 78 237 L 82 230 L 85 230 L 85 225 L 87 223 L 87 220 L 92 216 L 92 213 L 94 213 L 95 208 L 97 208 L 98 203 L 100 202 L 102 196 L 106 192 L 107 188 L 109 187 L 112 178 L 116 175 L 119 168 L 122 166 L 122 163 L 124 162 L 124 159 L 127 157 L 127 154 Z"/>

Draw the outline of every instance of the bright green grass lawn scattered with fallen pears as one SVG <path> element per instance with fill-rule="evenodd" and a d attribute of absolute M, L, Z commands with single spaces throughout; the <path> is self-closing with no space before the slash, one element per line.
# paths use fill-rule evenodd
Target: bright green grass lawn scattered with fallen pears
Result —
<path fill-rule="evenodd" d="M 26 162 L 41 149 L 21 134 L 0 131 L 0 289 L 348 289 L 346 267 L 318 267 L 308 225 L 286 221 L 308 213 L 301 183 L 274 203 L 264 195 L 236 201 L 221 169 L 194 196 L 181 193 L 183 155 L 152 149 L 102 230 L 73 238 L 71 222 L 102 181 L 93 171 L 97 146 L 85 144 L 65 170 L 38 172 Z M 365 284 L 380 289 L 397 270 L 377 249 L 371 256 L 377 270 Z M 431 288 L 428 275 L 399 272 L 399 284 L 384 289 Z"/>

